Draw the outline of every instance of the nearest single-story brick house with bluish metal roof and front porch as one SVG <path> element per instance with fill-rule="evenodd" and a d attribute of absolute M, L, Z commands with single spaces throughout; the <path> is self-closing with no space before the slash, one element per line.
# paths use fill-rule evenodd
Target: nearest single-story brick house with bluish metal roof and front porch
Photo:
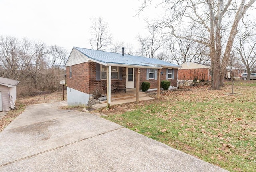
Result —
<path fill-rule="evenodd" d="M 132 56 L 74 47 L 66 61 L 68 105 L 87 105 L 96 88 L 107 90 L 122 85 L 126 89 L 141 87 L 150 82 L 150 89 L 157 89 L 160 80 L 170 80 L 177 86 L 180 66 L 159 59 Z M 158 80 L 160 76 L 160 80 Z M 137 84 L 138 82 L 138 84 Z M 111 99 L 111 98 L 110 98 Z"/>

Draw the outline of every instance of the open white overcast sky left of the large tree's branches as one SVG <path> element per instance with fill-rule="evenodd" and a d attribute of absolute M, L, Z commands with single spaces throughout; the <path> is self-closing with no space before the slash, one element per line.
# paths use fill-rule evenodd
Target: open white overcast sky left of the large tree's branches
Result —
<path fill-rule="evenodd" d="M 148 10 L 135 16 L 140 3 L 138 0 L 0 0 L 0 35 L 42 40 L 48 46 L 91 48 L 89 18 L 102 16 L 114 40 L 136 46 L 136 36 L 145 32 L 144 18 L 157 15 Z"/>

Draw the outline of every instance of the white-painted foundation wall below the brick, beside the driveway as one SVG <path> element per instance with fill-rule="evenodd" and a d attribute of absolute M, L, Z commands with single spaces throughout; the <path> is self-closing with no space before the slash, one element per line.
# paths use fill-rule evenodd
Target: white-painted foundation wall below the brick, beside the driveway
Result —
<path fill-rule="evenodd" d="M 68 106 L 87 106 L 91 95 L 67 87 Z"/>

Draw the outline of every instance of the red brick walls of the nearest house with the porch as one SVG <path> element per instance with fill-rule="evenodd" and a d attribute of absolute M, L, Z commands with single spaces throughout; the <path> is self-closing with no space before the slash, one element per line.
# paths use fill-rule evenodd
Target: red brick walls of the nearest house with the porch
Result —
<path fill-rule="evenodd" d="M 150 88 L 157 88 L 157 80 L 146 80 L 146 72 L 145 68 L 140 68 L 140 89 L 141 84 L 144 81 L 150 82 Z M 174 72 L 174 80 L 169 79 L 171 81 L 171 86 L 177 86 L 177 69 L 173 69 Z M 161 81 L 166 80 L 166 68 L 161 69 L 163 75 L 161 75 Z M 106 90 L 107 80 L 99 80 L 96 81 L 96 63 L 95 62 L 85 62 L 82 64 L 76 64 L 72 66 L 72 78 L 69 78 L 69 66 L 66 67 L 67 74 L 67 86 L 78 91 L 92 94 L 93 90 L 96 88 L 102 88 Z M 122 68 L 122 75 L 126 75 L 126 68 Z M 137 77 L 137 68 L 135 68 L 135 82 L 134 88 L 136 88 L 136 77 Z M 111 87 L 116 88 L 118 85 L 126 85 L 126 78 L 122 78 L 122 80 L 111 80 Z"/>

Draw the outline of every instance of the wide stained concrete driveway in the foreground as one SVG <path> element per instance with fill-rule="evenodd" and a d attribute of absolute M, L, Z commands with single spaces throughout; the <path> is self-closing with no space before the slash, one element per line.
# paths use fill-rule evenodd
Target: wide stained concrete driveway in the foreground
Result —
<path fill-rule="evenodd" d="M 90 113 L 27 106 L 0 133 L 1 172 L 189 171 L 222 168 Z"/>

